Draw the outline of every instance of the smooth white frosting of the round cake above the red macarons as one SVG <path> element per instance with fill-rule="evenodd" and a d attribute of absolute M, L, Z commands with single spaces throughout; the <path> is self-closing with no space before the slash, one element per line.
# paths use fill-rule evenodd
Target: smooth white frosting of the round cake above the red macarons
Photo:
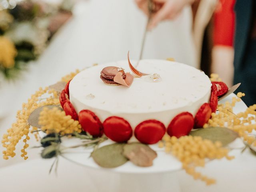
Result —
<path fill-rule="evenodd" d="M 136 64 L 135 61 L 132 63 Z M 135 128 L 144 120 L 156 119 L 168 126 L 180 112 L 196 114 L 209 101 L 211 82 L 200 70 L 166 60 L 141 60 L 138 70 L 157 73 L 161 80 L 150 76 L 134 78 L 132 85 L 108 86 L 100 79 L 106 66 L 116 66 L 131 72 L 127 61 L 111 62 L 88 68 L 70 82 L 70 101 L 76 112 L 88 109 L 103 122 L 109 116 L 120 116 Z M 131 72 L 132 73 L 132 72 Z"/>

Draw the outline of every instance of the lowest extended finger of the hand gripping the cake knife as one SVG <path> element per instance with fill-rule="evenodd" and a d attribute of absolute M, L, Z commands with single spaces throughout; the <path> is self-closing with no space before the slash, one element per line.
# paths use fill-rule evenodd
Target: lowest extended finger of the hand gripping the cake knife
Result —
<path fill-rule="evenodd" d="M 152 30 L 160 21 L 166 19 L 171 11 L 172 7 L 170 7 L 169 4 L 164 4 L 164 6 L 162 6 L 162 8 L 152 17 L 148 29 Z"/>

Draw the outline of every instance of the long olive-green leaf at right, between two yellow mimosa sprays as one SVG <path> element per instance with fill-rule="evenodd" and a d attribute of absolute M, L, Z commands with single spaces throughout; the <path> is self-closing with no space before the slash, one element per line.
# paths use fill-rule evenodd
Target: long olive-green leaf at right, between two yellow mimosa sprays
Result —
<path fill-rule="evenodd" d="M 222 142 L 223 146 L 226 146 L 238 138 L 238 133 L 226 127 L 201 128 L 195 131 L 191 131 L 190 135 L 201 136 L 203 139 L 209 139 L 212 142 L 220 141 Z"/>

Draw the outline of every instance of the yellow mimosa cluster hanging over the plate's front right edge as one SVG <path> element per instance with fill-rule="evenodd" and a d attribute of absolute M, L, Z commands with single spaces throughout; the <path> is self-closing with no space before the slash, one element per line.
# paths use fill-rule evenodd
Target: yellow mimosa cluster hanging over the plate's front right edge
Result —
<path fill-rule="evenodd" d="M 234 157 L 228 156 L 228 150 L 222 147 L 221 142 L 213 143 L 210 140 L 202 139 L 199 136 L 175 136 L 165 135 L 163 141 L 158 143 L 160 148 L 165 147 L 166 153 L 171 153 L 182 162 L 182 168 L 186 173 L 193 176 L 194 179 L 200 179 L 207 185 L 214 184 L 216 181 L 212 178 L 196 172 L 196 166 L 204 167 L 205 159 L 221 159 L 226 157 L 231 160 Z"/>

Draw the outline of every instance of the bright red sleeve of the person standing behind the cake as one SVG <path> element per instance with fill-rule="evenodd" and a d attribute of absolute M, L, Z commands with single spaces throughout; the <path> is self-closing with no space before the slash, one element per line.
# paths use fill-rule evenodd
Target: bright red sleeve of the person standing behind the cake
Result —
<path fill-rule="evenodd" d="M 214 45 L 233 46 L 235 30 L 235 0 L 220 0 L 220 6 L 214 13 Z"/>

